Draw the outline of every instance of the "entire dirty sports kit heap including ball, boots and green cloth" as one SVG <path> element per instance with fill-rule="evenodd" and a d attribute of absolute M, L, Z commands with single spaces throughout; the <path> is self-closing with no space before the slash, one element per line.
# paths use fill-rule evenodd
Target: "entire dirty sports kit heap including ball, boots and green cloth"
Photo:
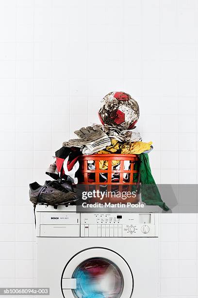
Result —
<path fill-rule="evenodd" d="M 139 119 L 139 106 L 130 94 L 124 92 L 108 93 L 101 101 L 99 119 L 102 125 L 82 127 L 74 131 L 77 139 L 63 143 L 55 152 L 54 163 L 46 171 L 53 181 L 43 186 L 37 182 L 30 184 L 30 200 L 35 204 L 61 205 L 77 200 L 74 186 L 81 182 L 79 157 L 93 154 L 136 154 L 138 163 L 134 169 L 139 175 L 133 175 L 133 182 L 141 183 L 142 201 L 147 205 L 159 205 L 165 211 L 168 207 L 162 201 L 159 190 L 152 177 L 148 153 L 153 149 L 152 142 L 144 143 L 140 133 L 135 131 Z M 120 160 L 112 161 L 112 169 L 120 169 Z M 108 160 L 99 160 L 99 168 L 106 170 Z M 130 160 L 124 161 L 124 169 L 130 168 Z M 88 169 L 95 170 L 93 160 L 89 160 Z M 95 173 L 90 173 L 88 182 L 94 183 Z M 118 173 L 112 174 L 112 182 L 118 182 Z M 129 174 L 123 173 L 124 182 L 130 183 Z M 107 173 L 100 173 L 99 181 L 107 182 Z"/>

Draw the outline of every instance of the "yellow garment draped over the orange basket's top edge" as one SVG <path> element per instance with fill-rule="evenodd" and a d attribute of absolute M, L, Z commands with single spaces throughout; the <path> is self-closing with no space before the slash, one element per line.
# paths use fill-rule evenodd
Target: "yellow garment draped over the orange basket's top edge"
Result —
<path fill-rule="evenodd" d="M 134 143 L 119 143 L 117 140 L 111 140 L 111 146 L 107 146 L 106 149 L 100 150 L 98 154 L 109 154 L 116 153 L 116 151 L 121 149 L 121 154 L 141 154 L 146 150 L 150 149 L 152 142 L 144 143 L 144 142 L 134 142 Z M 119 160 L 113 160 L 112 166 L 119 165 Z M 107 160 L 99 160 L 99 168 L 107 169 L 108 161 Z"/>

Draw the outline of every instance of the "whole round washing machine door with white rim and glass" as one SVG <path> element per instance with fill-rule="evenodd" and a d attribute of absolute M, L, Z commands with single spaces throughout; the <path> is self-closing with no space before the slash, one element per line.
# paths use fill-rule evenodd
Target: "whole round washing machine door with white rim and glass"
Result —
<path fill-rule="evenodd" d="M 64 298 L 130 298 L 132 272 L 127 262 L 106 248 L 79 252 L 63 271 Z"/>

